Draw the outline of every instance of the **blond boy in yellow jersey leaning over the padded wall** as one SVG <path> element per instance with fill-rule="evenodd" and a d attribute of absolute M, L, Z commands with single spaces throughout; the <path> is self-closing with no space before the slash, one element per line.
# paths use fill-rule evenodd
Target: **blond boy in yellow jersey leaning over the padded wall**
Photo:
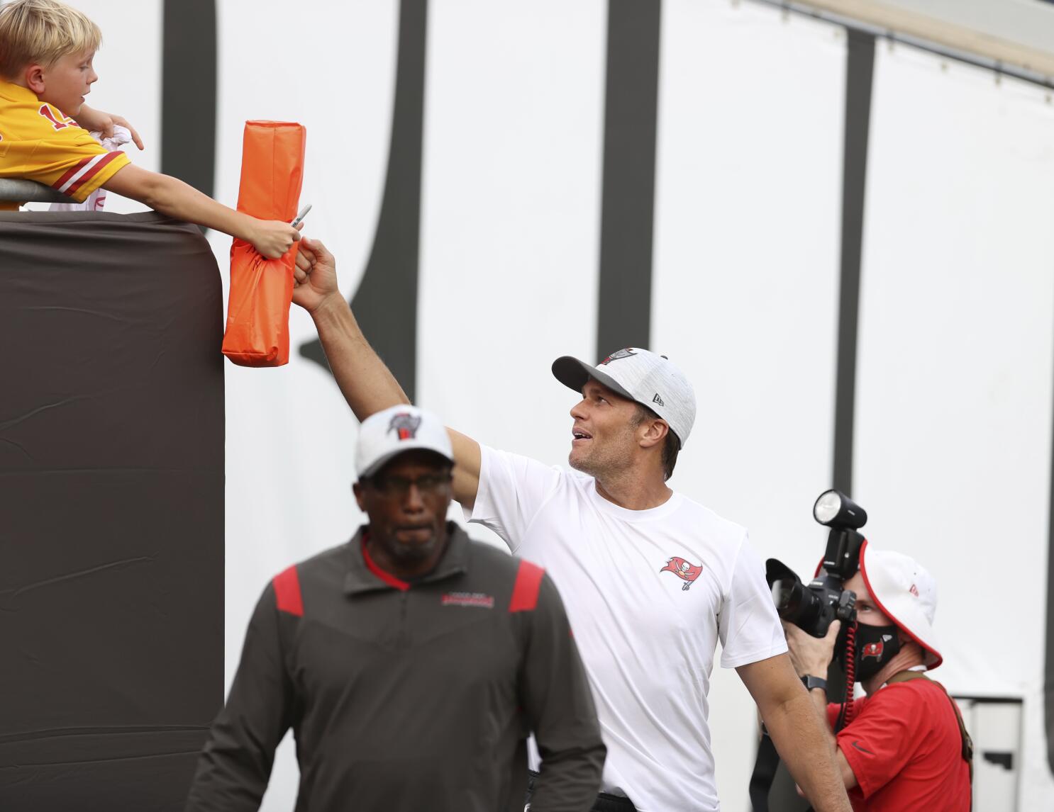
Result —
<path fill-rule="evenodd" d="M 101 42 L 94 22 L 56 0 L 0 6 L 0 178 L 36 180 L 78 202 L 102 186 L 174 219 L 238 237 L 270 259 L 289 251 L 299 239 L 289 223 L 257 220 L 181 180 L 134 166 L 124 153 L 106 152 L 78 125 L 74 117 L 99 78 L 92 60 Z M 17 207 L 0 203 L 0 210 Z"/>

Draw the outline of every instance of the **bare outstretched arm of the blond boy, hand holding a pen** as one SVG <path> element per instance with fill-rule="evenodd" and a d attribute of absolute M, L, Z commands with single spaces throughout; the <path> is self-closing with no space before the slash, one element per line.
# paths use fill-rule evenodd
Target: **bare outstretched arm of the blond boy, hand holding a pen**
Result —
<path fill-rule="evenodd" d="M 177 220 L 204 225 L 251 242 L 268 259 L 277 259 L 299 239 L 299 232 L 280 220 L 257 220 L 202 195 L 181 180 L 129 164 L 102 187 L 130 197 Z"/>

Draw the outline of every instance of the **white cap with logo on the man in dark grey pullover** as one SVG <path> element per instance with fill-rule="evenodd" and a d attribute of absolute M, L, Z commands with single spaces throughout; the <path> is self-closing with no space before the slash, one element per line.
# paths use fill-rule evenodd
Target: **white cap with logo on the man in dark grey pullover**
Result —
<path fill-rule="evenodd" d="M 393 405 L 370 415 L 358 430 L 355 471 L 358 478 L 376 473 L 392 457 L 424 449 L 446 457 L 451 464 L 454 451 L 443 421 L 414 405 Z"/>

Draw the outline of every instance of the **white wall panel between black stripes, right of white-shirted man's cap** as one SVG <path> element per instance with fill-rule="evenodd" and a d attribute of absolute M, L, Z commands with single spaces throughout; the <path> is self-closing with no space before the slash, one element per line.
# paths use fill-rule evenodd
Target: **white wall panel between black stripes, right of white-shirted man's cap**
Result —
<path fill-rule="evenodd" d="M 762 558 L 818 558 L 831 482 L 845 37 L 772 8 L 663 4 L 651 349 L 696 388 L 672 486 Z M 616 348 L 602 348 L 611 352 Z M 726 809 L 748 807 L 756 711 L 716 669 Z"/>

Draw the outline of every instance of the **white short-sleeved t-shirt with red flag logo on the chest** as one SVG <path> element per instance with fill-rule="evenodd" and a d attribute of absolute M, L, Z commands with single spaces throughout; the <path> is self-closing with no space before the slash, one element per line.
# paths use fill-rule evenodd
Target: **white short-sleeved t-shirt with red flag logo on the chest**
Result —
<path fill-rule="evenodd" d="M 590 476 L 482 451 L 469 520 L 560 590 L 607 745 L 603 790 L 640 812 L 718 810 L 706 721 L 718 639 L 724 668 L 787 650 L 746 531 L 679 493 L 630 511 Z"/>

